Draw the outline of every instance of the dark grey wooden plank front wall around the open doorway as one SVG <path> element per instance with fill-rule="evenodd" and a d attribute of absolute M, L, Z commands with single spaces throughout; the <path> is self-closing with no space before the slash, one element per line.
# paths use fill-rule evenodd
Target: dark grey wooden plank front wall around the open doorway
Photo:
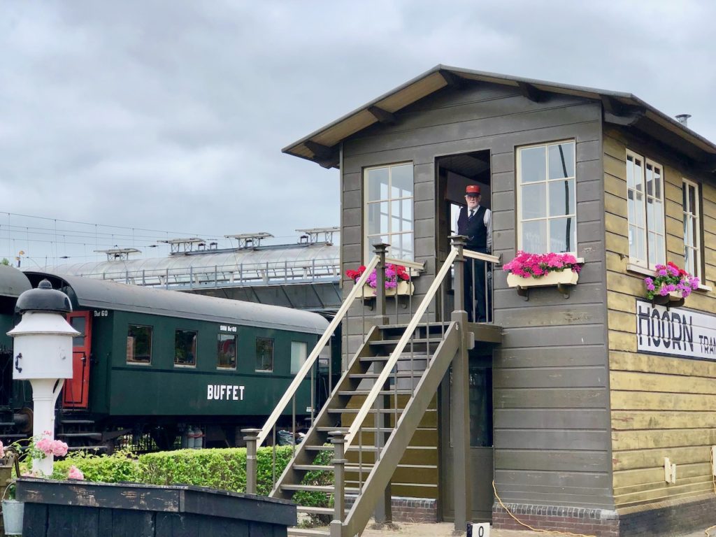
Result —
<path fill-rule="evenodd" d="M 579 284 L 569 299 L 543 288 L 531 289 L 526 301 L 508 289 L 503 271 L 494 274 L 495 321 L 504 332 L 493 354 L 495 481 L 508 502 L 611 506 L 601 103 L 563 95 L 532 102 L 516 88 L 481 83 L 442 89 L 395 116 L 395 125 L 374 125 L 344 141 L 343 199 L 350 205 L 343 270 L 355 268 L 362 251 L 354 208 L 362 169 L 412 162 L 416 258 L 427 261 L 414 304 L 437 264 L 435 211 L 442 203 L 435 199 L 435 159 L 490 151 L 493 251 L 506 262 L 517 246 L 516 147 L 576 141 L 577 253 L 587 261 Z M 354 352 L 359 336 L 351 338 Z"/>

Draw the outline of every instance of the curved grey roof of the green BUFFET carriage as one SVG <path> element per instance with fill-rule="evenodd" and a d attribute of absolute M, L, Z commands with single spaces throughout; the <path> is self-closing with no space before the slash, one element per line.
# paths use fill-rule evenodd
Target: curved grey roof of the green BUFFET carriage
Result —
<path fill-rule="evenodd" d="M 74 305 L 86 308 L 132 311 L 310 334 L 323 334 L 328 326 L 328 321 L 319 314 L 281 306 L 148 289 L 79 276 L 34 271 L 26 274 L 30 279 L 49 277 L 55 286 L 59 284 L 69 287 L 67 293 Z"/>

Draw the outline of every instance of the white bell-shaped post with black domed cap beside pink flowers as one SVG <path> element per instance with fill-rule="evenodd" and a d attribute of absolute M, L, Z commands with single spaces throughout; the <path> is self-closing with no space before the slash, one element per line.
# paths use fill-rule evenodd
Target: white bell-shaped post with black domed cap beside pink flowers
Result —
<path fill-rule="evenodd" d="M 64 379 L 72 378 L 72 337 L 79 335 L 65 319 L 72 304 L 66 294 L 42 280 L 37 289 L 18 297 L 15 309 L 22 319 L 7 333 L 14 338 L 12 378 L 32 384 L 34 439 L 54 440 L 54 405 Z M 34 459 L 32 469 L 51 475 L 53 463 L 50 454 Z"/>

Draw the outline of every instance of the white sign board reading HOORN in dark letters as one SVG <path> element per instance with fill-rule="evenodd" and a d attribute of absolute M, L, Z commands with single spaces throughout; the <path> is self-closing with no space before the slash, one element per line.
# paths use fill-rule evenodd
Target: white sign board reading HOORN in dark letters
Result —
<path fill-rule="evenodd" d="M 716 360 L 716 316 L 637 300 L 637 350 Z"/>

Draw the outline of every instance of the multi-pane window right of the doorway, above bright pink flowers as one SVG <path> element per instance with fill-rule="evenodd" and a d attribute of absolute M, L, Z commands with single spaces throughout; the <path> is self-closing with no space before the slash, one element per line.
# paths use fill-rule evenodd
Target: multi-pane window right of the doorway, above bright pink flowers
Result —
<path fill-rule="evenodd" d="M 518 249 L 576 253 L 574 142 L 521 147 L 517 174 Z"/>

